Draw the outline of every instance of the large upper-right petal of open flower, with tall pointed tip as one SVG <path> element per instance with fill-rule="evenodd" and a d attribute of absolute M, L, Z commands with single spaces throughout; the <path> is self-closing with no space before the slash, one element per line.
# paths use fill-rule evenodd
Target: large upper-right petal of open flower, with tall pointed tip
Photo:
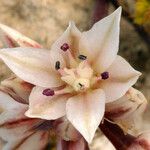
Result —
<path fill-rule="evenodd" d="M 117 56 L 120 16 L 121 7 L 82 33 L 80 54 L 87 56 L 98 73 L 106 71 Z"/>

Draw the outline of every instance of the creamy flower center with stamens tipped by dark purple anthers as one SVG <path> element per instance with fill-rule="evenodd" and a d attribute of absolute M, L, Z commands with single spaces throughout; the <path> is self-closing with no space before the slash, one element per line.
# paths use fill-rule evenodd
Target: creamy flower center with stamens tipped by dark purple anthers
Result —
<path fill-rule="evenodd" d="M 97 82 L 109 78 L 109 72 L 103 72 L 99 76 L 94 75 L 94 71 L 88 63 L 88 58 L 85 55 L 79 55 L 78 61 L 70 52 L 70 47 L 64 43 L 60 49 L 66 53 L 70 62 L 70 68 L 61 68 L 60 61 L 56 61 L 55 69 L 60 73 L 61 80 L 67 83 L 67 86 L 60 91 L 53 91 L 52 89 L 45 89 L 43 95 L 53 96 L 69 92 L 84 92 L 90 88 L 95 88 Z"/>

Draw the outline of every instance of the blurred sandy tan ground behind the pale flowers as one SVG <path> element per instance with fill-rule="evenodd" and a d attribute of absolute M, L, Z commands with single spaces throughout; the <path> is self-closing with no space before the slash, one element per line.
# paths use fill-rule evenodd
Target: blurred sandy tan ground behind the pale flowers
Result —
<path fill-rule="evenodd" d="M 0 0 L 0 22 L 17 29 L 46 48 L 50 48 L 55 39 L 67 27 L 69 20 L 74 20 L 81 31 L 88 29 L 92 20 L 93 7 L 93 0 Z M 136 88 L 142 90 L 149 101 L 149 49 L 133 26 L 123 18 L 120 39 L 119 53 L 143 73 Z M 5 67 L 0 69 L 2 72 Z M 150 128 L 148 125 L 150 123 L 148 120 L 150 118 L 149 110 L 147 109 L 144 115 L 143 126 L 145 129 Z M 107 142 L 105 139 L 104 142 L 97 143 L 103 147 L 107 145 Z M 92 147 L 93 150 L 97 149 L 94 144 Z M 111 146 L 110 149 L 112 150 Z M 109 148 L 107 147 L 106 150 Z"/>

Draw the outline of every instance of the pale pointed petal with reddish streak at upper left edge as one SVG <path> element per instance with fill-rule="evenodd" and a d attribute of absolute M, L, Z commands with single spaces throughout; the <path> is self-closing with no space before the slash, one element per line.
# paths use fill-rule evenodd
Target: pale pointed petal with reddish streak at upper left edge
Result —
<path fill-rule="evenodd" d="M 4 47 L 18 47 L 18 45 L 21 47 L 42 47 L 37 42 L 4 24 L 0 24 L 0 39 L 2 39 Z"/>

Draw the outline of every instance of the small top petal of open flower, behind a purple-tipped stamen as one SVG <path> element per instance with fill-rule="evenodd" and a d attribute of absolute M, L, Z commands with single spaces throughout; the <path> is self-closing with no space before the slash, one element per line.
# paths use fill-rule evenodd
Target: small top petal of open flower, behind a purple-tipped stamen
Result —
<path fill-rule="evenodd" d="M 58 40 L 52 45 L 51 51 L 56 51 L 57 55 L 62 55 L 66 62 L 68 62 L 68 58 L 66 57 L 66 53 L 60 49 L 60 47 L 67 43 L 70 47 L 72 55 L 76 56 L 79 50 L 79 39 L 81 36 L 81 32 L 77 29 L 74 22 L 69 22 L 69 26 L 66 31 L 58 38 Z"/>

